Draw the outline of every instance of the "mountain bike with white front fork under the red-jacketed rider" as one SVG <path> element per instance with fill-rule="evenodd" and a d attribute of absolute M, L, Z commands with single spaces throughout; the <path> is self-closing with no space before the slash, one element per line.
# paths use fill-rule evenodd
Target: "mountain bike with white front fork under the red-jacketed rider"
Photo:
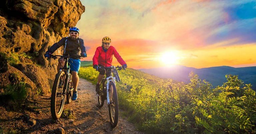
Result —
<path fill-rule="evenodd" d="M 106 71 L 111 71 L 110 76 L 104 75 L 102 81 L 100 82 L 100 92 L 98 95 L 98 104 L 99 107 L 104 105 L 104 101 L 107 100 L 109 118 L 112 127 L 116 127 L 118 122 L 118 97 L 116 90 L 116 81 L 120 81 L 117 70 L 121 70 L 120 66 L 111 66 L 111 67 L 99 67 L 99 69 L 107 69 Z M 113 75 L 114 74 L 114 77 Z"/>

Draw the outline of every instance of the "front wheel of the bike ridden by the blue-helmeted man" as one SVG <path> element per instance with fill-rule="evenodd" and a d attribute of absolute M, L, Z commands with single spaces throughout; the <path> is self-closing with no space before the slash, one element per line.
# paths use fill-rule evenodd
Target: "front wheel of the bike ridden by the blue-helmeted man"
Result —
<path fill-rule="evenodd" d="M 66 96 L 66 94 L 63 93 L 65 90 L 64 86 L 65 72 L 61 71 L 56 74 L 52 88 L 51 114 L 53 119 L 59 119 L 62 114 Z"/>

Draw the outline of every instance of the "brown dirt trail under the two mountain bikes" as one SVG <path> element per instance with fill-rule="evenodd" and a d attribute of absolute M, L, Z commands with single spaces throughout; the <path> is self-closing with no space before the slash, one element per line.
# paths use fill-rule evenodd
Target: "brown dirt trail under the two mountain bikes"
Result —
<path fill-rule="evenodd" d="M 65 111 L 73 110 L 74 118 L 61 117 L 57 121 L 53 120 L 50 96 L 43 96 L 34 104 L 37 108 L 8 112 L 5 117 L 2 116 L 0 126 L 12 127 L 18 133 L 57 133 L 56 129 L 60 127 L 65 133 L 142 133 L 121 116 L 116 128 L 112 129 L 106 102 L 102 108 L 97 107 L 95 85 L 80 78 L 78 88 L 78 99 L 64 106 Z"/>

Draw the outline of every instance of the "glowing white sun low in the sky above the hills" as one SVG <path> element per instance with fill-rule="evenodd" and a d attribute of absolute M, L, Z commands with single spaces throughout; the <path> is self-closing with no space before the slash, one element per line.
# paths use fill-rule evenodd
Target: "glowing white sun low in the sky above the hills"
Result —
<path fill-rule="evenodd" d="M 179 54 L 177 51 L 168 51 L 161 55 L 160 60 L 165 65 L 175 65 L 179 63 Z"/>

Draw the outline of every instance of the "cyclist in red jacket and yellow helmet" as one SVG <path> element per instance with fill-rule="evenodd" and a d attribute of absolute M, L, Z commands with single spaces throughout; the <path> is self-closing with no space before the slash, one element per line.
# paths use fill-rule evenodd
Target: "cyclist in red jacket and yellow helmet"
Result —
<path fill-rule="evenodd" d="M 99 71 L 98 81 L 96 84 L 96 93 L 100 92 L 100 82 L 104 77 L 104 74 L 106 73 L 107 77 L 110 76 L 110 71 L 104 70 L 104 69 L 98 69 L 99 66 L 104 67 L 110 67 L 112 66 L 112 59 L 113 55 L 116 57 L 117 61 L 124 67 L 127 68 L 127 64 L 122 59 L 122 57 L 119 55 L 119 53 L 116 51 L 116 49 L 113 46 L 110 46 L 111 39 L 109 37 L 104 37 L 102 39 L 102 44 L 100 47 L 97 47 L 95 54 L 93 56 L 93 68 L 96 69 L 96 71 Z"/>

